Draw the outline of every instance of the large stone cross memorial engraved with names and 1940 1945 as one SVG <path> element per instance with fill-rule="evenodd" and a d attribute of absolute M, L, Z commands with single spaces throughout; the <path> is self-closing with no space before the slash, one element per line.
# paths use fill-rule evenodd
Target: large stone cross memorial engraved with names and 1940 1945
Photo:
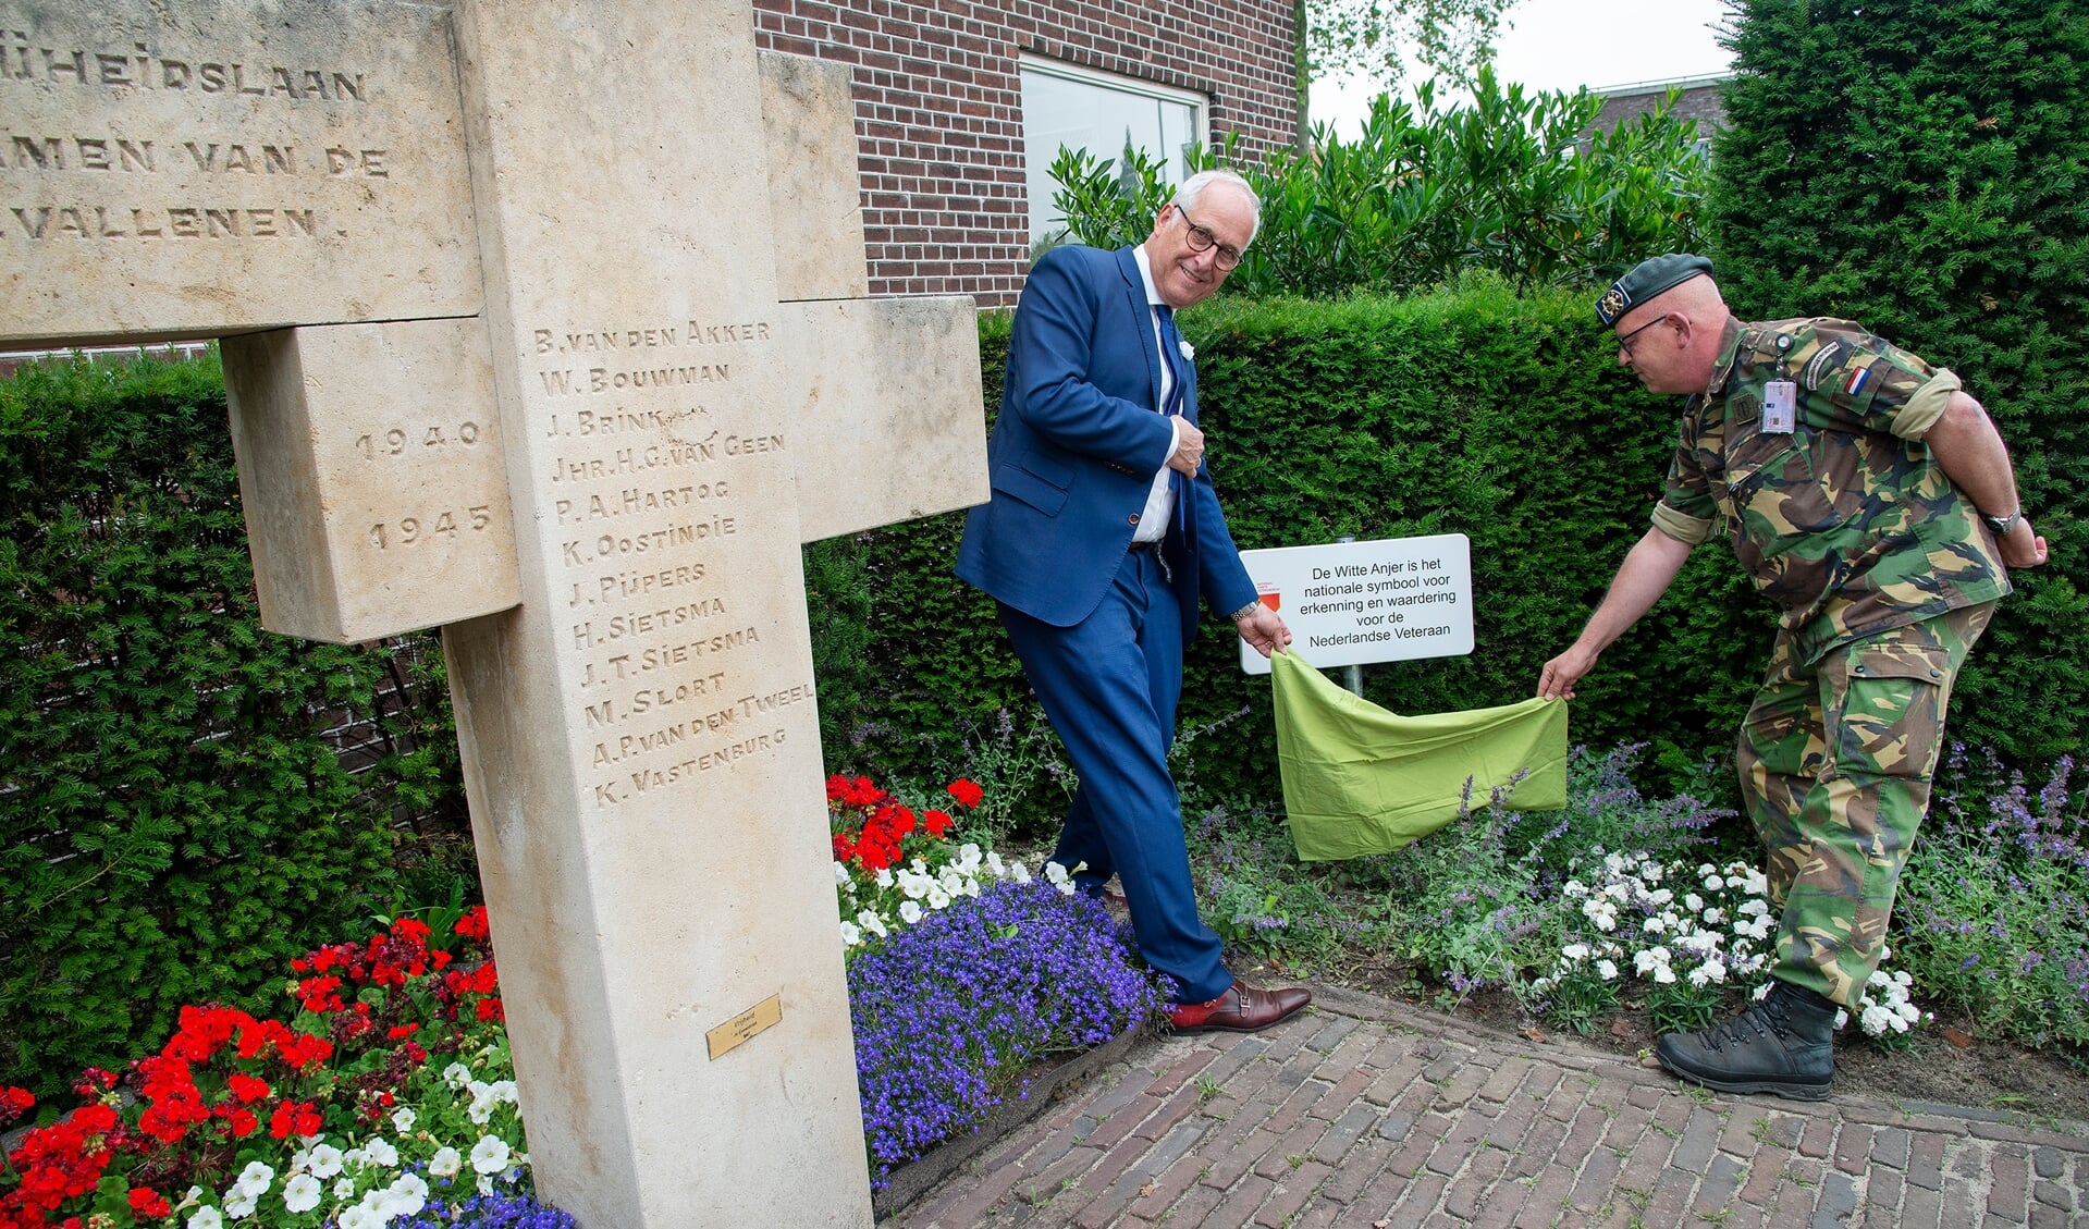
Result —
<path fill-rule="evenodd" d="M 0 343 L 221 337 L 269 629 L 443 629 L 529 1150 L 869 1225 L 798 546 L 986 497 L 748 0 L 0 0 Z"/>

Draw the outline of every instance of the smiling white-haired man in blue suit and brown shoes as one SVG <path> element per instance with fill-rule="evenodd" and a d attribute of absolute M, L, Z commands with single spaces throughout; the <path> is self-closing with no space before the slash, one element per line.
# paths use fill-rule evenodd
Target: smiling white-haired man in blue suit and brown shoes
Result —
<path fill-rule="evenodd" d="M 1015 309 L 992 500 L 965 518 L 957 575 L 1001 608 L 1080 788 L 1061 865 L 1101 895 L 1111 874 L 1147 964 L 1174 978 L 1178 1030 L 1255 1030 L 1306 991 L 1239 984 L 1197 918 L 1168 746 L 1199 598 L 1264 656 L 1291 631 L 1255 596 L 1203 466 L 1197 370 L 1174 311 L 1207 299 L 1253 242 L 1260 201 L 1201 171 L 1139 247 L 1059 247 Z"/>

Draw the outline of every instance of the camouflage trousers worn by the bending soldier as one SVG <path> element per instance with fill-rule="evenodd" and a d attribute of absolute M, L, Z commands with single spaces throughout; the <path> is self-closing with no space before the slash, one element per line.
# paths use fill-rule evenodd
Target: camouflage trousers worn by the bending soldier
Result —
<path fill-rule="evenodd" d="M 1771 972 L 1855 1007 L 1930 809 L 1945 706 L 1993 602 L 1832 646 L 1780 635 L 1740 727 L 1740 794 L 1780 911 Z"/>

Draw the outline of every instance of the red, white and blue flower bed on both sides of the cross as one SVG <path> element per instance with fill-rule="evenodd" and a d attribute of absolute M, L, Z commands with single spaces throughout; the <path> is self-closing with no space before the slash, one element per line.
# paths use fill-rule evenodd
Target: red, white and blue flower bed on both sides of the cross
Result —
<path fill-rule="evenodd" d="M 950 786 L 959 809 L 978 786 Z M 873 1185 L 1022 1099 L 1038 1060 L 1124 1035 L 1164 987 L 1059 867 L 950 815 L 829 784 Z M 90 1070 L 0 1168 L 0 1229 L 570 1229 L 531 1193 L 483 907 L 292 961 L 288 1022 L 184 1007 L 159 1053 Z M 36 1110 L 0 1089 L 0 1129 Z"/>

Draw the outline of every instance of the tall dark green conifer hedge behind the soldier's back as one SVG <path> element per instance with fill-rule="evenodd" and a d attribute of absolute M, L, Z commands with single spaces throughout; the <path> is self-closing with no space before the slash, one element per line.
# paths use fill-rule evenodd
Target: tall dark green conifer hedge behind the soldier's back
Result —
<path fill-rule="evenodd" d="M 1953 725 L 2047 761 L 2089 727 L 2089 8 L 1734 10 L 1721 288 L 1746 320 L 1859 320 L 1955 370 L 2001 426 L 2053 560 L 2016 573 Z"/>

